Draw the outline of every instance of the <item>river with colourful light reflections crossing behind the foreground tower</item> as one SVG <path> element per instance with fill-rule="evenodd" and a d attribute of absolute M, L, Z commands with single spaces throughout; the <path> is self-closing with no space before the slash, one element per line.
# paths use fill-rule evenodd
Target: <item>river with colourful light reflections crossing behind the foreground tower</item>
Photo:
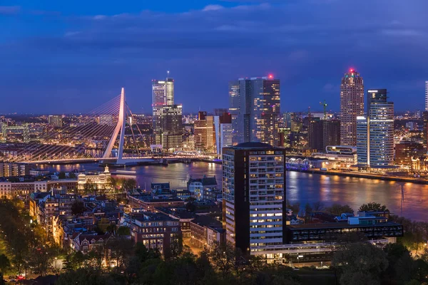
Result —
<path fill-rule="evenodd" d="M 81 165 L 39 165 L 54 171 L 102 170 L 96 164 Z M 221 165 L 206 162 L 181 163 L 163 166 L 138 166 L 133 176 L 140 187 L 150 187 L 151 182 L 170 182 L 172 188 L 185 188 L 189 177 L 203 175 L 217 178 L 221 187 Z M 320 201 L 325 206 L 333 203 L 349 204 L 356 210 L 361 204 L 378 202 L 386 204 L 391 212 L 409 219 L 428 221 L 428 185 L 383 181 L 367 178 L 319 175 L 304 172 L 287 172 L 287 199 L 300 202 L 304 208 L 307 202 Z"/>

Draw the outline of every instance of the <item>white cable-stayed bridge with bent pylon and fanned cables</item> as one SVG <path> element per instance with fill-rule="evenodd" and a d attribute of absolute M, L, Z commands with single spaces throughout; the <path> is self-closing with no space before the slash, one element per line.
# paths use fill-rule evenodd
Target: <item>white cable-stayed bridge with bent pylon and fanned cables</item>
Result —
<path fill-rule="evenodd" d="M 59 130 L 30 140 L 2 160 L 37 164 L 96 161 L 118 165 L 153 161 L 153 156 L 147 151 L 149 145 L 142 140 L 143 133 L 131 118 L 125 88 L 122 88 L 121 94 L 107 103 L 85 115 L 70 118 Z M 169 158 L 189 157 L 208 158 L 185 153 Z"/>

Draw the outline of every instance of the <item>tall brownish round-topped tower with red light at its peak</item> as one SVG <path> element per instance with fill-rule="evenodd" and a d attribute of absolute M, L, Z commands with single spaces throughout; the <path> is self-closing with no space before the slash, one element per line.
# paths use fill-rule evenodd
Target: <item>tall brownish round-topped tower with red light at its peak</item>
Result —
<path fill-rule="evenodd" d="M 364 82 L 350 69 L 340 86 L 340 145 L 357 145 L 357 117 L 364 115 Z"/>

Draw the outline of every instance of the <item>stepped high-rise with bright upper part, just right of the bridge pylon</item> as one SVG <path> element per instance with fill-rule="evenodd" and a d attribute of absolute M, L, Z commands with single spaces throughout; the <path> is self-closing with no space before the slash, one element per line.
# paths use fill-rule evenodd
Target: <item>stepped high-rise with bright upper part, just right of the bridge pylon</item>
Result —
<path fill-rule="evenodd" d="M 178 150 L 183 140 L 183 106 L 174 104 L 174 80 L 152 81 L 153 135 L 156 145 Z"/>

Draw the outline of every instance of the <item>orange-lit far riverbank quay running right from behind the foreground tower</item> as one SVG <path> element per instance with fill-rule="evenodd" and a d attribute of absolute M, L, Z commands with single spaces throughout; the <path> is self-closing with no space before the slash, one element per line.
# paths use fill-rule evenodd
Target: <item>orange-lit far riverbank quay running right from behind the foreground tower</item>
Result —
<path fill-rule="evenodd" d="M 385 181 L 409 182 L 409 183 L 428 185 L 428 180 L 424 178 L 414 178 L 414 177 L 385 176 L 385 175 L 376 175 L 372 173 L 342 172 L 342 171 L 334 171 L 334 170 L 324 171 L 324 170 L 317 170 L 317 169 L 309 169 L 309 170 L 287 169 L 287 171 L 316 173 L 316 174 L 322 174 L 322 175 L 337 175 L 342 177 L 377 179 L 377 180 L 385 180 Z"/>

